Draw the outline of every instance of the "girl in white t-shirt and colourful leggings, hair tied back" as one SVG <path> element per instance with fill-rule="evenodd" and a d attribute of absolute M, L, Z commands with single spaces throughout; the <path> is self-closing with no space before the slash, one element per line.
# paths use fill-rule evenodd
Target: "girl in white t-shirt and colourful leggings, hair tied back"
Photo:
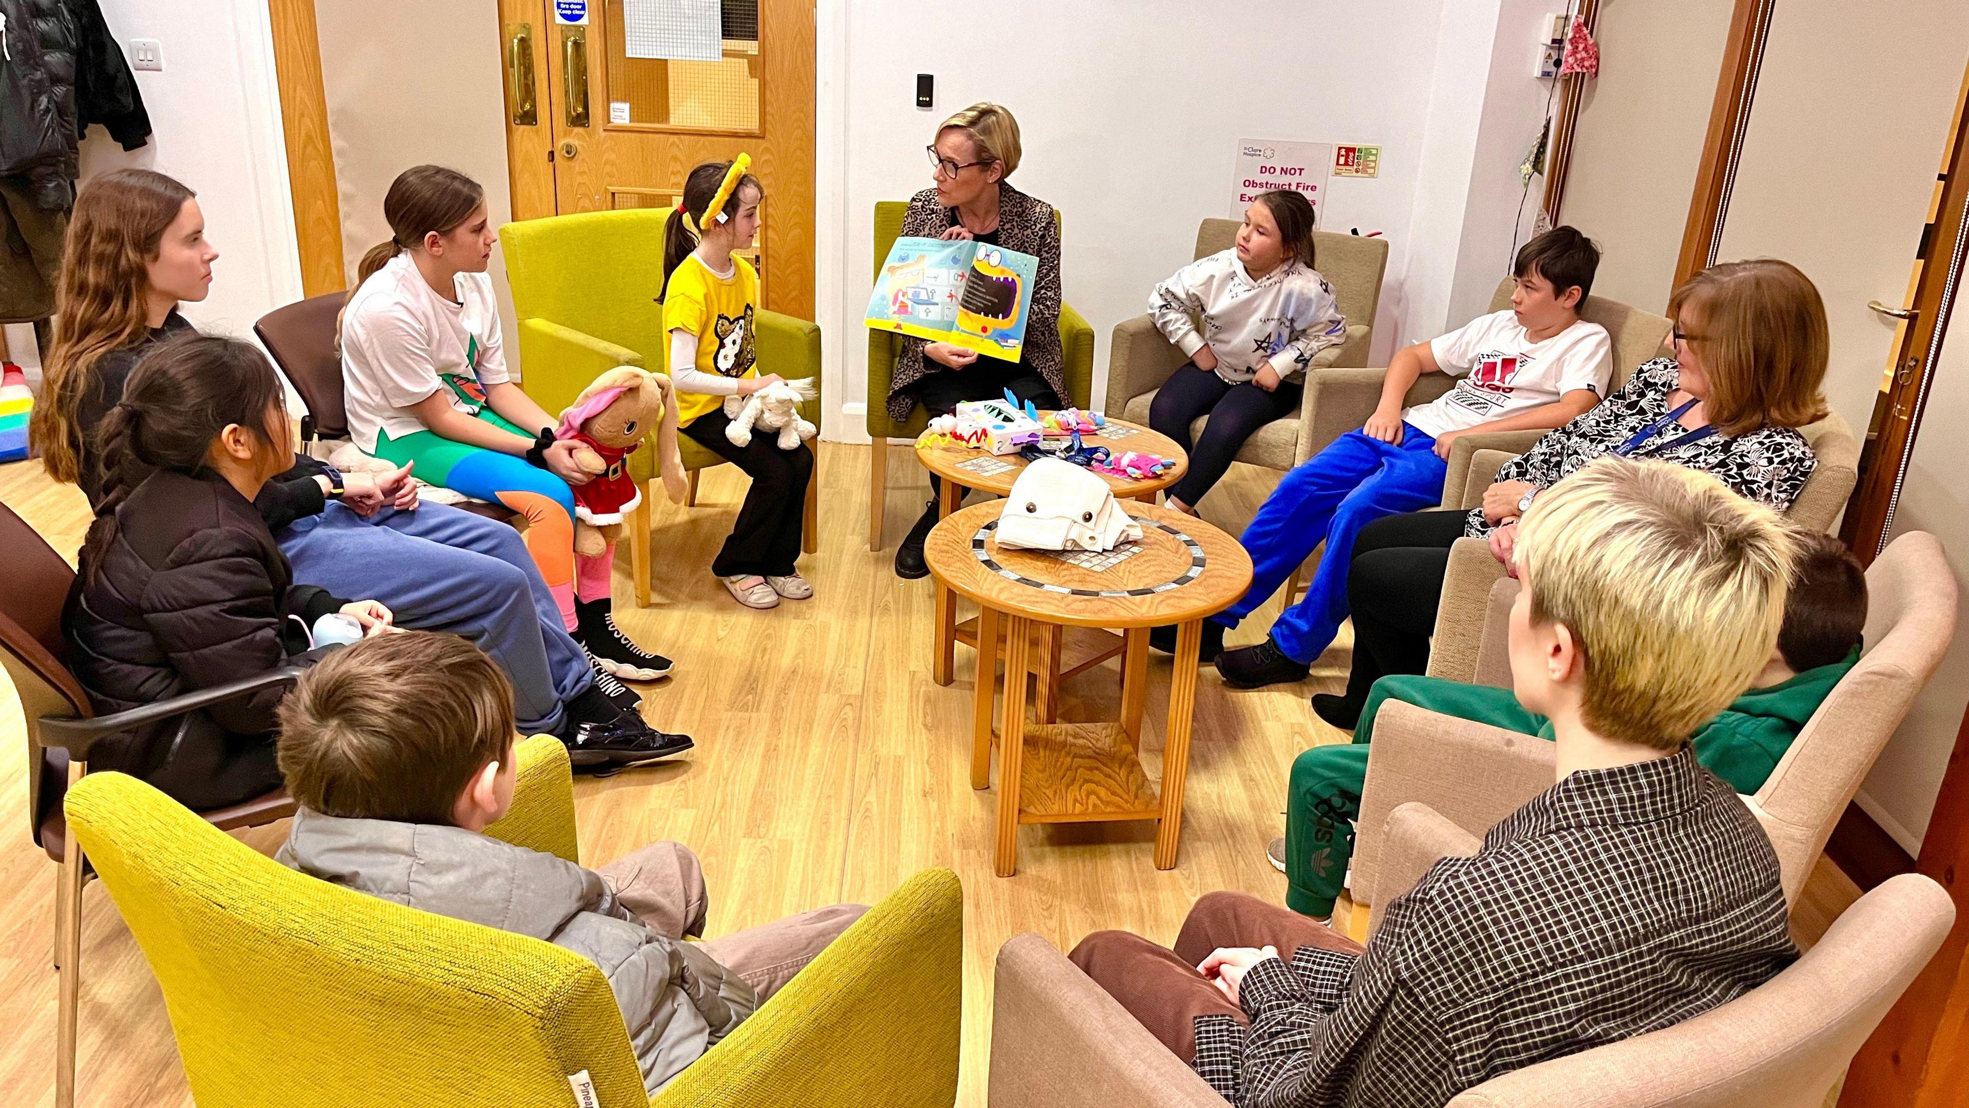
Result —
<path fill-rule="evenodd" d="M 573 442 L 506 373 L 486 262 L 496 231 L 484 189 L 441 166 L 415 166 L 384 197 L 392 237 L 356 268 L 343 310 L 349 432 L 364 451 L 419 479 L 526 517 L 526 548 L 567 631 L 624 680 L 669 672 L 669 658 L 614 625 L 614 548 L 575 556 L 575 495 L 589 481 Z"/>

